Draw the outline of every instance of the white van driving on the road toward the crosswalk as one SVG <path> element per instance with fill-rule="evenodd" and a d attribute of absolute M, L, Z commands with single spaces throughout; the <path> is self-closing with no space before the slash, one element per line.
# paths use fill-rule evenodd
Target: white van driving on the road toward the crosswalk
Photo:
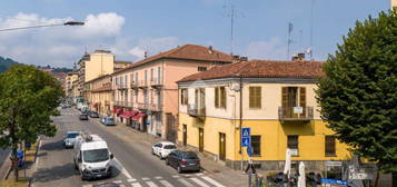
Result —
<path fill-rule="evenodd" d="M 77 138 L 73 161 L 82 180 L 111 176 L 111 159 L 113 154 L 98 135 L 82 135 Z"/>

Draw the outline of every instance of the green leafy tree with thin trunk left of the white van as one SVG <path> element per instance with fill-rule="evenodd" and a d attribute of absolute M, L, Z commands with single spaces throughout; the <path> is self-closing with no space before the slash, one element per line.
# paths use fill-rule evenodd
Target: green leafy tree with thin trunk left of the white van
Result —
<path fill-rule="evenodd" d="M 16 65 L 0 75 L 0 147 L 12 149 L 16 180 L 18 145 L 54 136 L 50 116 L 62 96 L 60 82 L 33 66 Z"/>

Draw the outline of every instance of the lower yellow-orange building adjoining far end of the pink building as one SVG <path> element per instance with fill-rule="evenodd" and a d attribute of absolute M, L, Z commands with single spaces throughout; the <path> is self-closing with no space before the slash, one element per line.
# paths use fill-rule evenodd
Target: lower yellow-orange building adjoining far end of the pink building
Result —
<path fill-rule="evenodd" d="M 102 116 L 110 116 L 112 100 L 111 76 L 105 75 L 85 83 L 89 109 Z"/>

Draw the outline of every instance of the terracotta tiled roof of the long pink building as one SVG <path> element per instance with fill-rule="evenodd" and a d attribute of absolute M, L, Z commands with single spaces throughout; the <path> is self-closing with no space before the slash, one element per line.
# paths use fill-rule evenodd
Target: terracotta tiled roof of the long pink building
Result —
<path fill-rule="evenodd" d="M 145 65 L 147 62 L 151 62 L 151 61 L 162 59 L 162 58 L 217 61 L 217 62 L 231 62 L 231 60 L 232 60 L 232 56 L 220 52 L 218 50 L 214 50 L 214 49 L 210 50 L 210 48 L 208 48 L 208 47 L 198 46 L 198 45 L 185 45 L 185 46 L 173 48 L 171 50 L 148 57 L 143 60 L 132 62 L 131 65 L 127 66 L 127 68 L 121 69 L 116 72 L 120 72 L 126 69 L 138 67 L 138 66 Z"/>

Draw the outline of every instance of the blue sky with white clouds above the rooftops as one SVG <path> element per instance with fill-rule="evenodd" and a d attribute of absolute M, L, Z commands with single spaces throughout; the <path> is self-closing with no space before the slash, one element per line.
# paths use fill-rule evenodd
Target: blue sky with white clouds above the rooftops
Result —
<path fill-rule="evenodd" d="M 70 20 L 86 26 L 0 31 L 0 56 L 71 68 L 85 51 L 106 49 L 118 60 L 138 61 L 145 51 L 192 43 L 286 60 L 290 22 L 290 55 L 311 49 L 315 60 L 326 60 L 357 20 L 389 8 L 390 0 L 1 0 L 0 30 Z"/>

